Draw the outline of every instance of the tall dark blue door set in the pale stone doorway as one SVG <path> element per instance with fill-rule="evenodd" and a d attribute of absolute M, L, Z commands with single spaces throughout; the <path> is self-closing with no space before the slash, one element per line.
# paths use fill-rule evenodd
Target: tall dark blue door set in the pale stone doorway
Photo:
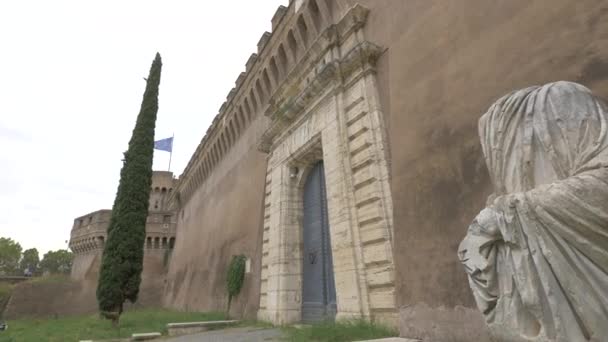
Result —
<path fill-rule="evenodd" d="M 303 223 L 302 321 L 333 320 L 336 286 L 322 161 L 313 167 L 304 184 Z"/>

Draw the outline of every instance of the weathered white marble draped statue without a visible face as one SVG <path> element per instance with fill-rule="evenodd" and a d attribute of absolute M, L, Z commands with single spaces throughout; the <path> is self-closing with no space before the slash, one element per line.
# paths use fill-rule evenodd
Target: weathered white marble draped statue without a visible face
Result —
<path fill-rule="evenodd" d="M 608 341 L 608 111 L 578 84 L 511 93 L 479 121 L 495 194 L 460 244 L 504 341 Z"/>

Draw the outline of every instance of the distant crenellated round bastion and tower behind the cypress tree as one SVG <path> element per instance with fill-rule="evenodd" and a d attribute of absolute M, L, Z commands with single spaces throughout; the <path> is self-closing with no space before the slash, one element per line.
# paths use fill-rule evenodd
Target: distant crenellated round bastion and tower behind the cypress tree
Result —
<path fill-rule="evenodd" d="M 168 171 L 154 171 L 150 191 L 150 208 L 146 219 L 146 240 L 144 242 L 144 259 L 142 281 L 136 307 L 159 307 L 162 301 L 167 266 L 175 244 L 176 217 L 167 210 L 167 200 L 176 180 Z M 74 219 L 70 234 L 70 249 L 74 253 L 70 282 L 57 285 L 59 291 L 54 301 L 37 302 L 35 300 L 17 300 L 13 310 L 14 316 L 50 314 L 88 313 L 97 310 L 96 290 L 99 279 L 99 268 L 103 248 L 107 241 L 107 230 L 110 225 L 111 210 L 98 210 Z M 50 286 L 50 285 L 48 285 Z M 48 287 L 48 291 L 54 287 Z M 30 293 L 46 291 L 47 285 L 27 285 L 18 289 L 18 294 L 28 298 Z M 69 298 L 68 298 L 69 297 Z M 19 296 L 16 298 L 20 298 Z M 71 310 L 63 310 L 61 303 L 78 303 Z M 36 304 L 38 303 L 38 304 Z M 37 305 L 37 306 L 36 306 Z M 133 305 L 127 304 L 127 308 Z"/>

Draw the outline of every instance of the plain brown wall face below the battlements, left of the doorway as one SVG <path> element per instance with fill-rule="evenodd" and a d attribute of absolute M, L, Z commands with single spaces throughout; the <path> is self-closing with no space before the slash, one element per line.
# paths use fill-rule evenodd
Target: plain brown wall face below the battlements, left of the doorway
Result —
<path fill-rule="evenodd" d="M 257 151 L 257 138 L 265 120 L 254 117 L 188 200 L 181 202 L 165 306 L 225 310 L 227 267 L 233 255 L 244 254 L 250 259 L 251 269 L 240 295 L 232 301 L 231 314 L 254 317 L 259 304 L 266 174 L 266 155 Z"/>

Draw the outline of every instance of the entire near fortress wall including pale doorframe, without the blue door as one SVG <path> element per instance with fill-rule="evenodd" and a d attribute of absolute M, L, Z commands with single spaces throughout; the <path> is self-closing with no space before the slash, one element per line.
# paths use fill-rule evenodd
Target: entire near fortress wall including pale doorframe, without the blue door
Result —
<path fill-rule="evenodd" d="M 231 313 L 297 320 L 301 256 L 289 251 L 302 217 L 290 177 L 323 159 L 332 241 L 344 242 L 332 246 L 336 269 L 357 274 L 336 277 L 351 298 L 338 294 L 338 310 L 396 315 L 405 337 L 486 341 L 456 256 L 492 191 L 477 120 L 509 91 L 550 81 L 608 98 L 607 16 L 598 0 L 279 7 L 169 195 L 179 234 L 163 304 L 223 310 L 226 268 L 245 254 Z"/>

